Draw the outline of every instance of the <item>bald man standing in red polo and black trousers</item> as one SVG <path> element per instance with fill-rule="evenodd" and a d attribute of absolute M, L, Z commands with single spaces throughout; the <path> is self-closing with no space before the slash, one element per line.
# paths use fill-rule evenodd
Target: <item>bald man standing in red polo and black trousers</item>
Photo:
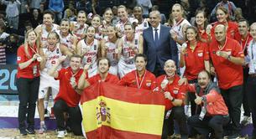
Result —
<path fill-rule="evenodd" d="M 230 138 L 239 136 L 240 114 L 243 101 L 243 49 L 238 41 L 226 37 L 226 28 L 219 24 L 214 30 L 209 53 L 212 59 L 211 73 L 216 75 L 222 96 L 232 121 Z"/>

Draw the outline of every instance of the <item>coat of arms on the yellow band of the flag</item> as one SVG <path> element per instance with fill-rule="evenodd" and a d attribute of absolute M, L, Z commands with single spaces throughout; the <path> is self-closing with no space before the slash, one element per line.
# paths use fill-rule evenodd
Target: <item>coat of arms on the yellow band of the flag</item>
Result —
<path fill-rule="evenodd" d="M 107 104 L 104 100 L 100 100 L 99 105 L 97 106 L 97 124 L 101 125 L 102 122 L 107 122 L 110 124 L 110 108 L 107 107 Z"/>

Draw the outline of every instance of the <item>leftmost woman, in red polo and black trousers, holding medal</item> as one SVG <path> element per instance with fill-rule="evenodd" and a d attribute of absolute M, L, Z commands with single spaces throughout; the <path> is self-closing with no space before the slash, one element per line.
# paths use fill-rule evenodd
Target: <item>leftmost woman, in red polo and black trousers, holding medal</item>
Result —
<path fill-rule="evenodd" d="M 40 83 L 39 62 L 42 60 L 37 39 L 34 30 L 29 30 L 24 45 L 17 52 L 18 128 L 21 135 L 34 134 L 35 102 Z"/>

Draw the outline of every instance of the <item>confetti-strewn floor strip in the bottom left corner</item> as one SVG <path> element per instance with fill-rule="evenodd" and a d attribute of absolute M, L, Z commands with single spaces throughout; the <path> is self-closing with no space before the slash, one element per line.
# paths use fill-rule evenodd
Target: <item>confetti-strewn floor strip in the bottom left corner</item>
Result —
<path fill-rule="evenodd" d="M 0 129 L 0 139 L 54 139 L 57 138 L 57 133 L 55 131 L 47 131 L 44 134 L 36 133 L 34 135 L 27 135 L 27 136 L 21 136 L 19 134 L 18 129 Z M 68 133 L 67 136 L 65 136 L 65 139 L 83 139 L 85 137 L 83 136 L 74 136 L 72 133 Z"/>

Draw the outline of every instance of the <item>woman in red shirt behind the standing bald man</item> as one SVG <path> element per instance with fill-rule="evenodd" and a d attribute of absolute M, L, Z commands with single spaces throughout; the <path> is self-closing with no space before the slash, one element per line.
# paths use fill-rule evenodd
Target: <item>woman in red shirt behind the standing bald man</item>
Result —
<path fill-rule="evenodd" d="M 211 34 L 212 38 L 215 38 L 214 36 L 214 29 L 218 24 L 223 24 L 226 27 L 227 37 L 234 39 L 235 34 L 238 33 L 238 23 L 234 23 L 230 21 L 229 14 L 227 12 L 227 8 L 224 7 L 218 7 L 216 10 L 217 15 L 217 22 L 214 23 Z"/>

